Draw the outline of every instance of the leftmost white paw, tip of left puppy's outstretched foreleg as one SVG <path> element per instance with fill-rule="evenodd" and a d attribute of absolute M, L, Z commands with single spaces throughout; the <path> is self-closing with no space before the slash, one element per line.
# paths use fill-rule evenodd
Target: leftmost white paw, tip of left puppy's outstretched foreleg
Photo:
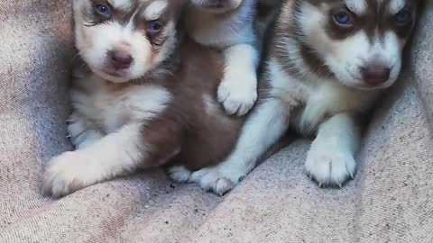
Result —
<path fill-rule="evenodd" d="M 51 159 L 42 178 L 42 191 L 59 198 L 97 183 L 90 157 L 81 152 L 66 152 Z"/>

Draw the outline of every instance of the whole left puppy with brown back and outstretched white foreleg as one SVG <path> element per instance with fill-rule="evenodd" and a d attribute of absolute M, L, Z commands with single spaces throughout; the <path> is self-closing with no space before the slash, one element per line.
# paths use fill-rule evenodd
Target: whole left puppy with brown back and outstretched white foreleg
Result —
<path fill-rule="evenodd" d="M 71 88 L 69 136 L 43 191 L 59 197 L 138 167 L 224 159 L 242 119 L 217 103 L 224 58 L 185 39 L 179 0 L 75 0 L 83 65 Z"/>

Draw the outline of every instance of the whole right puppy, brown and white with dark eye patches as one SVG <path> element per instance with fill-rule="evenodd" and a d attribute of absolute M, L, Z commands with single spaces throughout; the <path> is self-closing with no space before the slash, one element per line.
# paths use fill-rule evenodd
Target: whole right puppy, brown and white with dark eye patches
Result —
<path fill-rule="evenodd" d="M 265 62 L 263 93 L 235 150 L 189 180 L 225 193 L 289 126 L 316 135 L 305 168 L 319 186 L 342 186 L 354 177 L 357 117 L 398 78 L 420 2 L 285 1 Z"/>

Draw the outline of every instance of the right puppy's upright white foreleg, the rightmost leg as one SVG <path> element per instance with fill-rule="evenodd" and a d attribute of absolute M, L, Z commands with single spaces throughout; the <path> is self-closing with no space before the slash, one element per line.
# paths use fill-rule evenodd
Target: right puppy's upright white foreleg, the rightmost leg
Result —
<path fill-rule="evenodd" d="M 305 168 L 318 185 L 342 186 L 355 175 L 355 152 L 360 131 L 349 114 L 337 114 L 318 128 L 318 136 L 311 144 Z"/>

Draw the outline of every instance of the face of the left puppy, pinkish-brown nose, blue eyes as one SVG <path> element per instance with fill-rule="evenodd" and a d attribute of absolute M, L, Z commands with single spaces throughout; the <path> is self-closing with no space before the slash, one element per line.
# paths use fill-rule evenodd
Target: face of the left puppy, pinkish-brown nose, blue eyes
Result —
<path fill-rule="evenodd" d="M 180 0 L 74 0 L 76 45 L 97 75 L 123 83 L 167 58 Z"/>

